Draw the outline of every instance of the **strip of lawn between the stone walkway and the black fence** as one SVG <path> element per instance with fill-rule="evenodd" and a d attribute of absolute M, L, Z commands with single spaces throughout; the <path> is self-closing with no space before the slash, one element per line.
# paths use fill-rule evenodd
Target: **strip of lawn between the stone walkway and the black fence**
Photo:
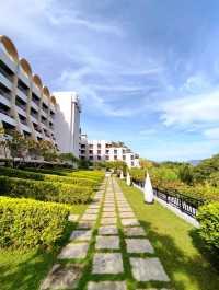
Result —
<path fill-rule="evenodd" d="M 176 290 L 219 289 L 219 274 L 206 258 L 196 230 L 158 202 L 150 206 L 143 204 L 139 189 L 127 187 L 120 181 L 119 184 L 146 229 L 173 287 Z"/>

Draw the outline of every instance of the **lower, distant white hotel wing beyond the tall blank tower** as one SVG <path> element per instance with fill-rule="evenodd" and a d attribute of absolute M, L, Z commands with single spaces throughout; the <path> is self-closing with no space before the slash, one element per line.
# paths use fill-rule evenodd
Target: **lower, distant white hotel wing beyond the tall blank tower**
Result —
<path fill-rule="evenodd" d="M 81 135 L 80 158 L 92 162 L 96 161 L 124 161 L 128 167 L 139 166 L 139 156 L 122 142 L 105 140 L 88 140 L 87 135 Z"/>

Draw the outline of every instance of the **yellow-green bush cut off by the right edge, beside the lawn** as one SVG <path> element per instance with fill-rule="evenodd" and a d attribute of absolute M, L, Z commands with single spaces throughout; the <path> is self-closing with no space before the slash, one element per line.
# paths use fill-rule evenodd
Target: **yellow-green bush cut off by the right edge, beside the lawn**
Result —
<path fill-rule="evenodd" d="M 219 202 L 205 205 L 198 209 L 199 234 L 211 248 L 219 250 Z"/>

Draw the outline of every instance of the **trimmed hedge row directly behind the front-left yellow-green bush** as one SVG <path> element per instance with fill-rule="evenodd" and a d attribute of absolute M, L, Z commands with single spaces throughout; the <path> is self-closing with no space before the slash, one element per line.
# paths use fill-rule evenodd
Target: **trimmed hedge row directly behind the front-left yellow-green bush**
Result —
<path fill-rule="evenodd" d="M 10 197 L 62 204 L 85 204 L 90 200 L 92 193 L 90 187 L 0 176 L 0 195 Z"/>

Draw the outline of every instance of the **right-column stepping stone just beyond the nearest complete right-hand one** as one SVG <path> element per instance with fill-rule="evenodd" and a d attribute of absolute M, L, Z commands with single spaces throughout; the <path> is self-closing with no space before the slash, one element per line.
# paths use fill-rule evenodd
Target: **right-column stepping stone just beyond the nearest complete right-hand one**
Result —
<path fill-rule="evenodd" d="M 148 239 L 125 239 L 127 253 L 150 253 L 154 250 Z"/>

